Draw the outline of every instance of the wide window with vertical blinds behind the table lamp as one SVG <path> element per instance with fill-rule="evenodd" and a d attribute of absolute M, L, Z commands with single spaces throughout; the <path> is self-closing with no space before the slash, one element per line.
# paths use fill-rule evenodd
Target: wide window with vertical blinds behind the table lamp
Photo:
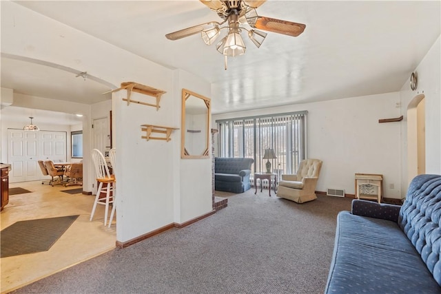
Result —
<path fill-rule="evenodd" d="M 295 174 L 306 158 L 307 112 L 271 114 L 216 120 L 219 129 L 219 156 L 254 158 L 254 172 L 266 171 L 263 154 L 272 148 L 276 159 L 271 169 L 278 174 Z"/>

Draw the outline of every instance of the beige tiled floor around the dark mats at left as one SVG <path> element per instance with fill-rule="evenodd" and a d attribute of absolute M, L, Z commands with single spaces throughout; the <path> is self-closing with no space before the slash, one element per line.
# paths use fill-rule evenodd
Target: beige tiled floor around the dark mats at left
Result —
<path fill-rule="evenodd" d="M 49 251 L 1 258 L 1 293 L 8 293 L 115 248 L 115 224 L 111 228 L 104 227 L 104 206 L 96 208 L 94 220 L 90 222 L 94 196 L 61 192 L 80 186 L 52 187 L 41 185 L 41 181 L 18 182 L 9 186 L 28 189 L 32 193 L 10 196 L 9 204 L 1 211 L 1 229 L 19 220 L 72 215 L 79 215 L 79 218 Z"/>

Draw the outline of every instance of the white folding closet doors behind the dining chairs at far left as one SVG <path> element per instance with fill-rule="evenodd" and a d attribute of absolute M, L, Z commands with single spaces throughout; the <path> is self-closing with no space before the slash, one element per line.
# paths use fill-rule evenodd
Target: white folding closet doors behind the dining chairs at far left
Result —
<path fill-rule="evenodd" d="M 38 160 L 66 161 L 65 146 L 65 132 L 27 132 L 21 129 L 8 129 L 10 182 L 45 178 L 41 173 Z"/>

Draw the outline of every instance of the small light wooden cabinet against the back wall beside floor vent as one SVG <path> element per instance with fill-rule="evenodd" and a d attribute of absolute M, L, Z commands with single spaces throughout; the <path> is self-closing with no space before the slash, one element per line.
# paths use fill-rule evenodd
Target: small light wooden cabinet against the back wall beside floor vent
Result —
<path fill-rule="evenodd" d="M 382 180 L 380 174 L 356 174 L 356 198 L 381 203 Z"/>

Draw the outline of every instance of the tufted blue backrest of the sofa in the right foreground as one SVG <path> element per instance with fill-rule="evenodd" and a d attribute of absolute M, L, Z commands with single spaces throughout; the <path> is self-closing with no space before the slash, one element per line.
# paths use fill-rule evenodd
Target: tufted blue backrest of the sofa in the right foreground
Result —
<path fill-rule="evenodd" d="M 441 176 L 413 178 L 400 209 L 398 225 L 441 286 Z"/>

